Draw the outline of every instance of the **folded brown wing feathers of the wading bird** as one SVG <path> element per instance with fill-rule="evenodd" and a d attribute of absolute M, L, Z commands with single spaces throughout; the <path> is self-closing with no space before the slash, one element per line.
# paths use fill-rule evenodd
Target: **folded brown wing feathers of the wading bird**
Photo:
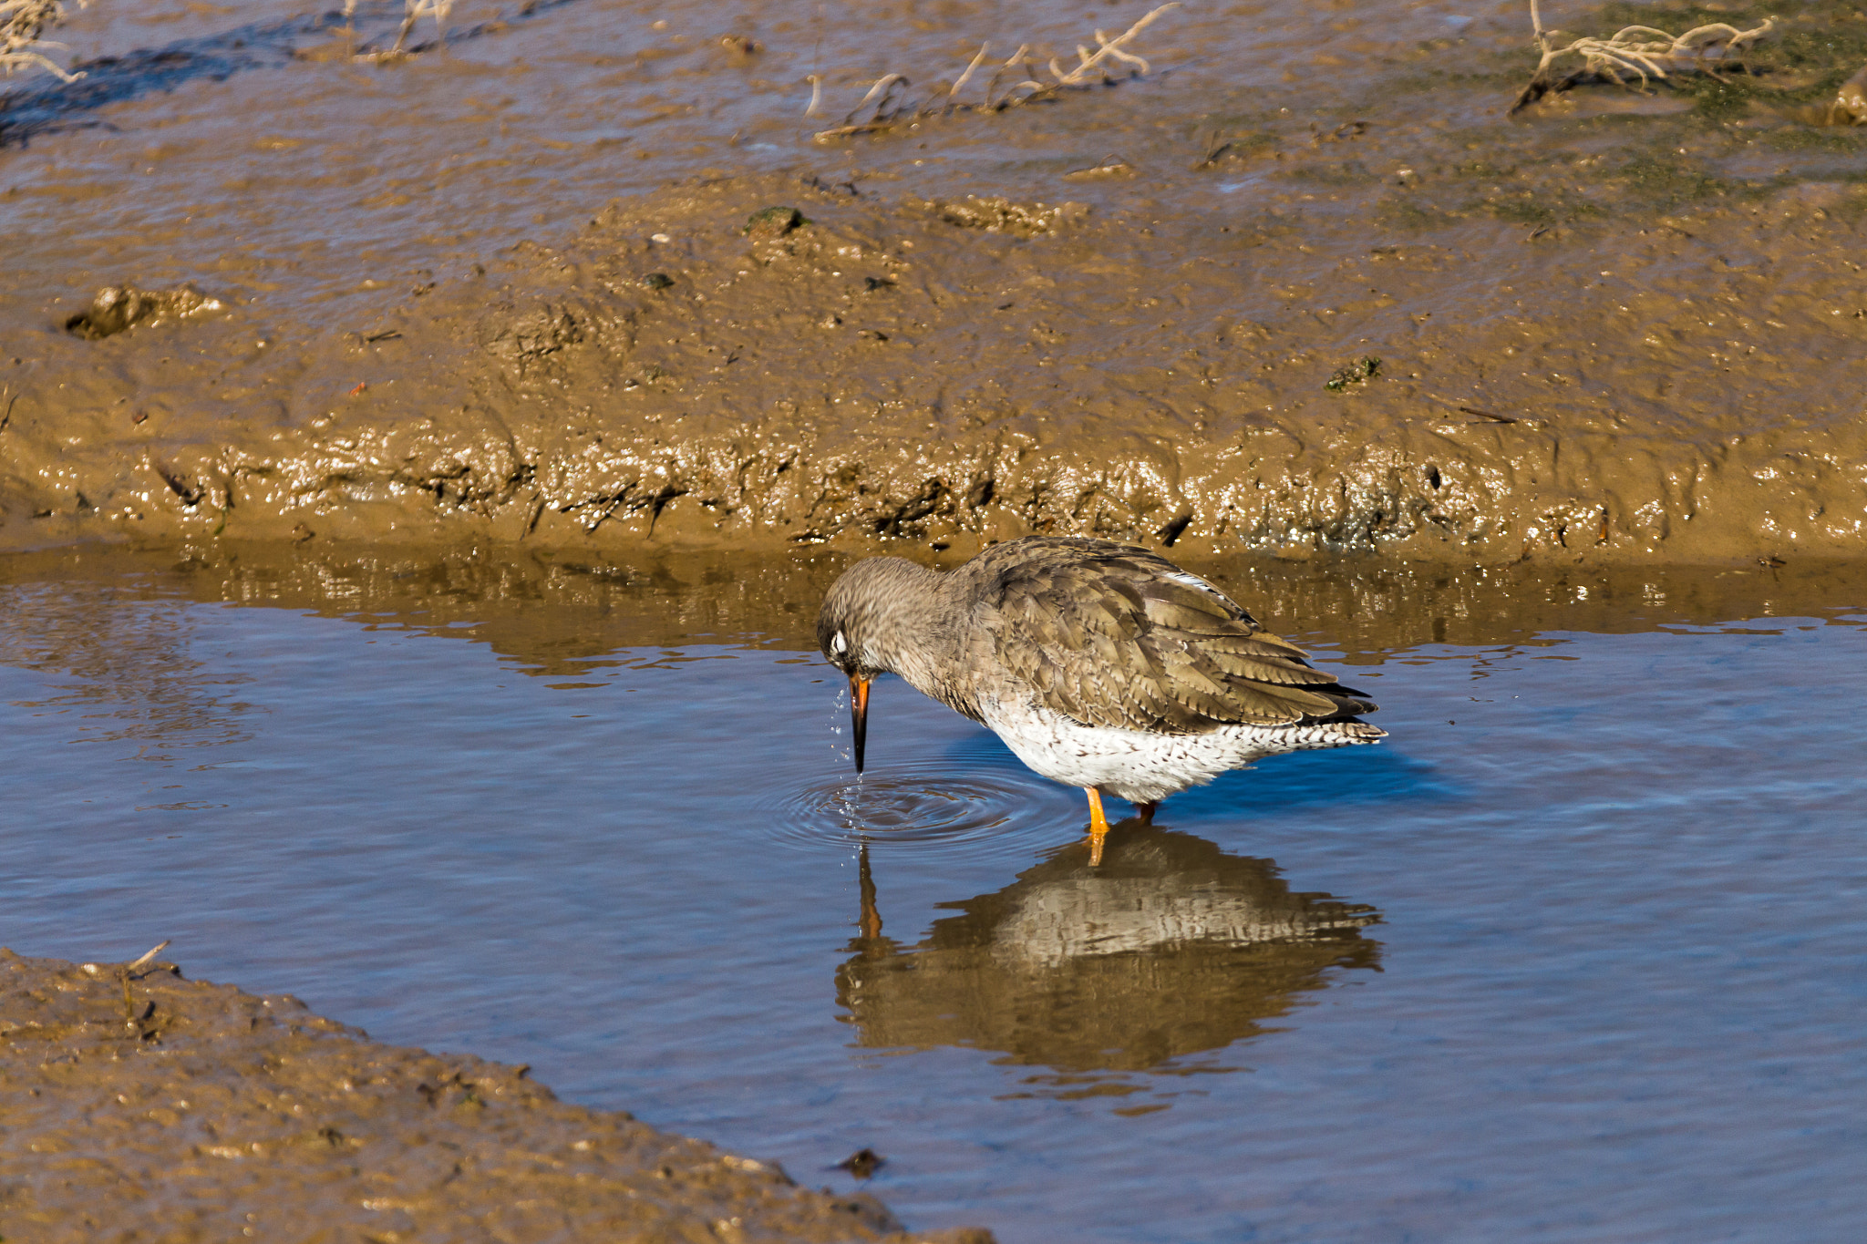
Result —
<path fill-rule="evenodd" d="M 995 578 L 982 621 L 999 634 L 999 658 L 1077 722 L 1202 733 L 1374 707 L 1143 548 L 1046 541 Z"/>

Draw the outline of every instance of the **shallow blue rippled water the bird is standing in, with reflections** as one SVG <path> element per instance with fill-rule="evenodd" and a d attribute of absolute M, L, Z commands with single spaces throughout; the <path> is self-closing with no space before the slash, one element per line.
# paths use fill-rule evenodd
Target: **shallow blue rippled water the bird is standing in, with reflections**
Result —
<path fill-rule="evenodd" d="M 1077 795 L 900 683 L 855 780 L 829 563 L 358 565 L 9 563 L 0 940 L 174 938 L 807 1182 L 866 1145 L 1006 1242 L 1867 1210 L 1867 614 L 1811 602 L 1858 595 L 1232 567 L 1391 739 L 1092 873 Z"/>

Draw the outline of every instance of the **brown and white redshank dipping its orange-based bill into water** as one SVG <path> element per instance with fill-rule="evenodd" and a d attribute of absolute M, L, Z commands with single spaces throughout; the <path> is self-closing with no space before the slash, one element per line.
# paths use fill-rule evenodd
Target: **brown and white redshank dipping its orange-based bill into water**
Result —
<path fill-rule="evenodd" d="M 818 645 L 849 679 L 855 770 L 868 686 L 909 686 L 982 722 L 1018 759 L 1088 793 L 1102 862 L 1102 796 L 1154 819 L 1169 795 L 1279 752 L 1374 742 L 1374 703 L 1309 664 L 1223 591 L 1159 554 L 1100 539 L 1027 535 L 939 573 L 904 558 L 844 571 Z"/>

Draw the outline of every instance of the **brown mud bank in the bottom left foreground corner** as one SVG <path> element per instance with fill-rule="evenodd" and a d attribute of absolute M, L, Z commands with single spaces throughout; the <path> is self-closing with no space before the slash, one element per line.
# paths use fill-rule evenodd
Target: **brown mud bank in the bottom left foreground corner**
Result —
<path fill-rule="evenodd" d="M 991 1240 L 166 962 L 0 949 L 0 1087 L 7 1240 Z"/>

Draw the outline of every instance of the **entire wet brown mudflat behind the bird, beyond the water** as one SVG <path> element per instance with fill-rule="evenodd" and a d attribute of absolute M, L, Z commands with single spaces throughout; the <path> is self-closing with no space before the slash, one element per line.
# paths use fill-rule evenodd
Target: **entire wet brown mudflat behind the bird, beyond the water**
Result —
<path fill-rule="evenodd" d="M 1863 548 L 1867 129 L 1805 117 L 1858 95 L 1848 6 L 1783 9 L 1751 73 L 1509 119 L 1516 4 L 1174 11 L 1144 76 L 835 138 L 872 80 L 950 84 L 1008 15 L 487 7 L 385 67 L 351 56 L 377 9 L 0 104 L 32 242 L 0 311 L 7 546 Z M 1088 19 L 1019 21 L 1003 47 L 1047 56 Z M 235 60 L 175 76 L 209 54 Z M 538 75 L 562 108 L 491 101 Z M 237 106 L 254 138 L 209 142 Z M 123 134 L 157 123 L 142 162 Z M 125 282 L 228 310 L 65 330 Z"/>

